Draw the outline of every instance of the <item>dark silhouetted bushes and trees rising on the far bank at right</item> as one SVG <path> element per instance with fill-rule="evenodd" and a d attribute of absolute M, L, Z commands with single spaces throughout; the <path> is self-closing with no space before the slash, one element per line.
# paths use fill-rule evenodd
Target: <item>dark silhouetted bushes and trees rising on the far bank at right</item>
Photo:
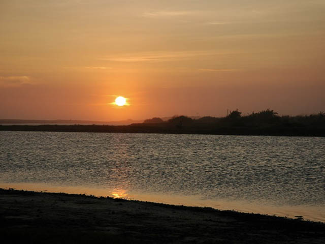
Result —
<path fill-rule="evenodd" d="M 210 131 L 213 134 L 247 135 L 325 135 L 325 113 L 280 116 L 271 109 L 243 115 L 238 109 L 230 111 L 225 117 L 204 116 L 191 118 L 174 116 L 168 121 L 151 118 L 144 124 L 165 127 L 179 131 Z"/>

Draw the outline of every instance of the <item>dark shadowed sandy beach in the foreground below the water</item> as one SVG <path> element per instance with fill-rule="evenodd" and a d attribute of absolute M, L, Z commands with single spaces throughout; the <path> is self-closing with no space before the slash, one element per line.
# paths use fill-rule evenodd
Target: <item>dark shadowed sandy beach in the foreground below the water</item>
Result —
<path fill-rule="evenodd" d="M 325 243 L 325 223 L 0 189 L 2 243 Z"/>

